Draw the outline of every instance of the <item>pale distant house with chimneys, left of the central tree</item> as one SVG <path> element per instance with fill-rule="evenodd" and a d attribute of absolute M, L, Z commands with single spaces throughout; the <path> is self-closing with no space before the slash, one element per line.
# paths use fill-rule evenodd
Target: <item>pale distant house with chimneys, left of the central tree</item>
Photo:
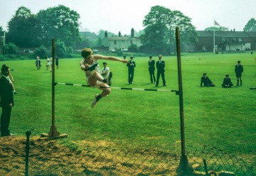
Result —
<path fill-rule="evenodd" d="M 142 45 L 139 37 L 134 36 L 134 28 L 132 28 L 130 36 L 122 36 L 120 32 L 118 36 L 108 36 L 107 31 L 105 31 L 105 37 L 102 38 L 102 45 L 109 51 L 128 50 L 128 47 L 132 44 L 137 45 L 137 47 Z"/>

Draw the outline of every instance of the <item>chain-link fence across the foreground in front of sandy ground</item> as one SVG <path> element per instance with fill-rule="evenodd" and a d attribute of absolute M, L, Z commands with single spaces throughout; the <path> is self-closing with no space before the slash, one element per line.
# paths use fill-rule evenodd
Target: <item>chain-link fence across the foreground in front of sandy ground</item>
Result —
<path fill-rule="evenodd" d="M 70 143 L 32 136 L 0 138 L 0 175 L 176 175 L 179 150 L 112 148 L 104 143 Z M 11 143 L 10 143 L 11 141 Z M 215 147 L 187 150 L 194 170 L 256 175 L 255 155 L 233 155 Z"/>

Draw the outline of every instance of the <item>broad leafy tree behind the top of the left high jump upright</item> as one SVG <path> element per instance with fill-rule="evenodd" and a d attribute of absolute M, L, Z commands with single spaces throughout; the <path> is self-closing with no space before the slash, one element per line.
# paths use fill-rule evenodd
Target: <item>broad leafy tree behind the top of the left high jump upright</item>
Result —
<path fill-rule="evenodd" d="M 52 38 L 63 41 L 65 46 L 73 46 L 80 41 L 80 15 L 76 11 L 60 5 L 39 11 L 37 18 L 41 28 L 41 44 L 50 46 Z"/>

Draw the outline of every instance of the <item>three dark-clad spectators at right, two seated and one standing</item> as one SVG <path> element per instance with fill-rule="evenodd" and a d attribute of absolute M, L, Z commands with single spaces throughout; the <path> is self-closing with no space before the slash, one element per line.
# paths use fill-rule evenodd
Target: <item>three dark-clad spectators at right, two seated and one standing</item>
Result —
<path fill-rule="evenodd" d="M 235 76 L 237 77 L 237 86 L 242 85 L 242 72 L 243 72 L 243 67 L 241 65 L 241 61 L 238 60 L 238 64 L 235 65 Z M 210 78 L 206 75 L 206 73 L 203 73 L 203 77 L 201 77 L 201 87 L 215 87 L 215 84 L 210 80 Z M 228 87 L 233 87 L 233 83 L 231 82 L 231 79 L 229 75 L 225 75 L 225 78 L 223 79 L 223 84 L 221 84 L 222 87 L 228 88 Z"/>

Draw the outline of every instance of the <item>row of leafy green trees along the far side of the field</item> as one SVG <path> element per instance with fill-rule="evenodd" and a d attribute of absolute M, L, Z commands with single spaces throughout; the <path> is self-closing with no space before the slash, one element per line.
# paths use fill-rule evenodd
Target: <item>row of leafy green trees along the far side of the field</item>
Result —
<path fill-rule="evenodd" d="M 46 50 L 51 46 L 51 39 L 56 38 L 56 45 L 59 46 L 58 53 L 72 53 L 72 48 L 81 48 L 85 45 L 100 46 L 100 36 L 104 31 L 100 31 L 95 43 L 87 38 L 81 38 L 79 18 L 78 12 L 63 5 L 50 7 L 36 14 L 21 6 L 8 23 L 6 44 L 20 48 Z M 174 51 L 176 26 L 180 28 L 181 47 L 192 45 L 197 41 L 196 27 L 191 23 L 191 18 L 181 11 L 171 11 L 164 6 L 152 6 L 142 23 L 144 33 L 140 35 L 142 46 L 139 51 L 141 52 L 169 53 Z M 244 31 L 256 31 L 255 24 L 255 18 L 251 18 L 245 25 Z M 0 31 L 2 30 L 0 26 Z"/>

